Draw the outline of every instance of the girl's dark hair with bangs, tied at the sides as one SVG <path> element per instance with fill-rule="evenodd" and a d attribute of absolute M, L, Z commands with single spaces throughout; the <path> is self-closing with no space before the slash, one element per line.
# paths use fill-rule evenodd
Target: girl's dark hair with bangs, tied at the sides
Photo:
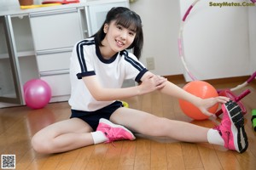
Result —
<path fill-rule="evenodd" d="M 134 38 L 131 46 L 127 49 L 133 48 L 133 53 L 137 57 L 140 58 L 142 49 L 143 49 L 143 26 L 142 20 L 138 14 L 131 11 L 129 8 L 125 7 L 116 7 L 111 8 L 108 11 L 106 16 L 106 20 L 102 24 L 102 27 L 99 31 L 96 32 L 92 37 L 96 38 L 96 42 L 102 46 L 102 40 L 106 36 L 106 33 L 103 31 L 105 24 L 110 24 L 111 21 L 115 20 L 116 25 L 124 26 L 127 29 L 131 29 L 136 32 L 136 37 Z"/>

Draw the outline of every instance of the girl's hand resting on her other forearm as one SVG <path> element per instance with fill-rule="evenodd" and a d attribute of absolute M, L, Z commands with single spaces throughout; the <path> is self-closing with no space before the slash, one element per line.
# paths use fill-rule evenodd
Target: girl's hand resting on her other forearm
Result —
<path fill-rule="evenodd" d="M 148 94 L 154 90 L 164 88 L 167 79 L 154 74 L 148 74 L 143 77 L 143 82 L 138 86 L 139 94 Z"/>

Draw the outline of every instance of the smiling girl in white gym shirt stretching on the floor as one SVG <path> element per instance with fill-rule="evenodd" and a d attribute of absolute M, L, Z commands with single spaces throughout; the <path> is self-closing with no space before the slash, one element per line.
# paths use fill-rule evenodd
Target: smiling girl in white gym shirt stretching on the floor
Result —
<path fill-rule="evenodd" d="M 36 133 L 32 138 L 34 150 L 48 154 L 65 152 L 90 144 L 133 140 L 133 133 L 219 144 L 240 153 L 247 150 L 243 116 L 236 103 L 221 96 L 200 99 L 154 75 L 138 60 L 142 47 L 143 29 L 139 15 L 129 8 L 112 8 L 101 29 L 73 48 L 70 59 L 71 118 L 55 122 Z M 131 48 L 134 54 L 126 50 Z M 139 85 L 121 88 L 123 81 L 131 78 Z M 222 103 L 223 120 L 218 127 L 209 129 L 125 108 L 118 101 L 154 90 L 186 99 L 207 116 L 212 116 L 207 111 L 209 107 Z"/>

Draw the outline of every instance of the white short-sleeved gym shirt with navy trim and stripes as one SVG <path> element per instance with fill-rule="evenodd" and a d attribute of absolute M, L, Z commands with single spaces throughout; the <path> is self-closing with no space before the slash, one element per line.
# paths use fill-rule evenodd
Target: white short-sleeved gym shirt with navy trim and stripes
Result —
<path fill-rule="evenodd" d="M 86 88 L 82 77 L 96 75 L 103 88 L 121 88 L 125 79 L 140 82 L 148 70 L 134 54 L 126 50 L 115 54 L 111 59 L 103 59 L 94 37 L 75 44 L 70 59 L 71 109 L 96 111 L 113 101 L 97 101 Z"/>

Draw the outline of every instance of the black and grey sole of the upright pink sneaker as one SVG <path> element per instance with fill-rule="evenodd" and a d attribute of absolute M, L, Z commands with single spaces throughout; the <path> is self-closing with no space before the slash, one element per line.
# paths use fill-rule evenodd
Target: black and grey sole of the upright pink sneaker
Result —
<path fill-rule="evenodd" d="M 228 111 L 228 115 L 230 116 L 230 120 L 232 120 L 231 131 L 234 136 L 234 144 L 236 150 L 240 153 L 247 150 L 248 141 L 247 141 L 247 133 L 244 129 L 244 117 L 239 105 L 236 102 L 229 101 L 225 105 L 226 110 Z"/>

